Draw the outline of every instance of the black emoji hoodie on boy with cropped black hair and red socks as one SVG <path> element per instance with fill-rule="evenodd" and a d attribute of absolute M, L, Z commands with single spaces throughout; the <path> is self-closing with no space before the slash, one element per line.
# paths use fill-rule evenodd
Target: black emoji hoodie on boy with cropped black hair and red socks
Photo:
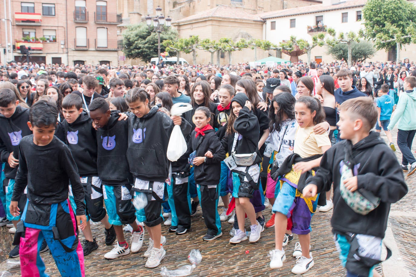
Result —
<path fill-rule="evenodd" d="M 129 121 L 119 118 L 119 111 L 111 113 L 107 125 L 97 130 L 98 176 L 106 185 L 133 184 L 126 157 Z"/>

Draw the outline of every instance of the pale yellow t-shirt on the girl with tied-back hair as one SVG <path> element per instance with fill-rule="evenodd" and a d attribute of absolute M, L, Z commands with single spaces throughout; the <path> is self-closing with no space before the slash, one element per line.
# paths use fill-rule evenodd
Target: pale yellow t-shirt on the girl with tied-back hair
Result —
<path fill-rule="evenodd" d="M 311 157 L 317 154 L 323 154 L 320 147 L 331 146 L 328 134 L 316 135 L 312 127 L 297 127 L 295 135 L 295 147 L 293 152 L 299 154 L 302 158 Z"/>

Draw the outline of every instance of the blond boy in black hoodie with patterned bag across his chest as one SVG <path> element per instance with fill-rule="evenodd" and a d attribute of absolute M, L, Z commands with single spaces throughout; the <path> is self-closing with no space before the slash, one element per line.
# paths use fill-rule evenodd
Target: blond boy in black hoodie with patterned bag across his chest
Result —
<path fill-rule="evenodd" d="M 390 204 L 407 193 L 407 186 L 391 149 L 378 133 L 370 132 L 377 121 L 372 99 L 350 99 L 339 110 L 343 141 L 324 153 L 302 194 L 313 197 L 329 191 L 334 182 L 331 225 L 340 260 L 347 276 L 369 276 L 383 258 L 381 242 Z"/>

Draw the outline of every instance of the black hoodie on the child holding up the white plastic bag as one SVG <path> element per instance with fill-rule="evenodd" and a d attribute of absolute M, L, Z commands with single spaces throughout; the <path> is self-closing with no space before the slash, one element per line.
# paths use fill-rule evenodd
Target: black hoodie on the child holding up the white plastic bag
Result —
<path fill-rule="evenodd" d="M 127 159 L 134 177 L 164 182 L 169 174 L 166 152 L 174 125 L 168 115 L 158 109 L 154 106 L 142 118 L 130 113 Z M 184 136 L 191 132 L 191 125 L 184 119 L 181 130 Z"/>

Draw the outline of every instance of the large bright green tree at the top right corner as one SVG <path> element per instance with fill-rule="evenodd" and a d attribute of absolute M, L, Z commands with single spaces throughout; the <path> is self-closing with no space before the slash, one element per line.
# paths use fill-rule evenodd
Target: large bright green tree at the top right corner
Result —
<path fill-rule="evenodd" d="M 396 46 L 400 62 L 402 45 L 416 42 L 416 7 L 406 0 L 369 0 L 363 10 L 365 36 L 377 49 Z"/>

